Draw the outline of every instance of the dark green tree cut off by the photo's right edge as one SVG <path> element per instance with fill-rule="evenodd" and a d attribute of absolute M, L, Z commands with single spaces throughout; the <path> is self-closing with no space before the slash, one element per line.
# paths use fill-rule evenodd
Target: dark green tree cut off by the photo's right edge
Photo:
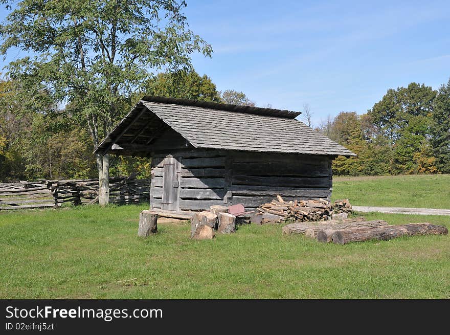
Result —
<path fill-rule="evenodd" d="M 436 165 L 442 173 L 450 173 L 450 79 L 439 88 L 434 101 L 431 134 Z"/>

